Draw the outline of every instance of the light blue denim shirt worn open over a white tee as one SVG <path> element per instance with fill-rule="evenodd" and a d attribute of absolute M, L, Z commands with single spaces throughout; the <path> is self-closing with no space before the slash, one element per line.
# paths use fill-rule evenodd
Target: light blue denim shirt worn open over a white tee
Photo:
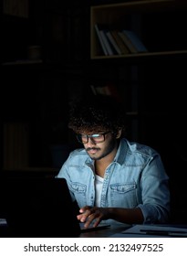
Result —
<path fill-rule="evenodd" d="M 94 206 L 94 161 L 85 149 L 71 152 L 57 177 L 67 179 L 71 197 L 79 208 Z M 106 169 L 100 207 L 140 208 L 144 224 L 164 223 L 170 212 L 168 179 L 155 150 L 123 138 L 114 161 Z"/>

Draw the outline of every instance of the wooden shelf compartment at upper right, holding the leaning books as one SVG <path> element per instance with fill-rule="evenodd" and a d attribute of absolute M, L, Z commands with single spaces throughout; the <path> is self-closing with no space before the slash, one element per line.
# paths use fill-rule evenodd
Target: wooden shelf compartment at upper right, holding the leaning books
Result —
<path fill-rule="evenodd" d="M 177 44 L 176 38 L 176 44 L 172 43 L 173 33 L 171 31 L 171 26 L 174 26 L 174 29 L 179 29 L 180 27 L 180 31 L 177 33 L 176 37 L 181 37 L 181 40 L 185 40 L 186 43 L 186 38 L 182 32 L 182 29 L 185 29 L 187 24 L 184 9 L 186 9 L 186 4 L 183 1 L 175 0 L 144 0 L 109 5 L 92 5 L 90 7 L 90 59 L 187 55 L 187 48 L 184 44 Z M 176 11 L 177 17 L 174 13 Z M 173 14 L 176 17 L 175 22 L 178 25 L 173 23 Z M 177 20 L 178 17 L 179 20 Z M 166 21 L 166 18 L 170 19 L 172 22 L 170 23 L 169 20 Z M 164 25 L 165 23 L 166 25 Z M 135 54 L 105 56 L 100 49 L 95 24 L 101 24 L 105 27 L 130 29 L 137 32 L 140 39 L 148 46 L 149 51 Z M 164 33 L 163 27 L 167 33 Z M 150 37 L 149 33 L 151 34 Z M 163 39 L 161 39 L 162 37 Z M 164 41 L 166 39 L 168 43 L 167 48 L 166 45 L 161 45 L 161 40 Z M 152 42 L 154 43 L 154 41 L 157 40 L 159 47 L 152 48 Z M 171 45 L 171 47 L 168 45 Z"/>

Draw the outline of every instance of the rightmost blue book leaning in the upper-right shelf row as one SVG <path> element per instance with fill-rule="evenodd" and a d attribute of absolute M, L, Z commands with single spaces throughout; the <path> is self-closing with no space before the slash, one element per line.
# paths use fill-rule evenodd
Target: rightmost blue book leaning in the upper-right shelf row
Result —
<path fill-rule="evenodd" d="M 148 49 L 141 42 L 140 38 L 133 31 L 123 29 L 122 32 L 130 39 L 130 42 L 136 48 L 137 52 L 148 51 Z"/>

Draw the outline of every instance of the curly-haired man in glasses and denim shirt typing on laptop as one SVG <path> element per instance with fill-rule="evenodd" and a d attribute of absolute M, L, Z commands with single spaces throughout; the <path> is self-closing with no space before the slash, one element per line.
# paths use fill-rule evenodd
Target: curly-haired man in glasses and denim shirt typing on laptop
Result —
<path fill-rule="evenodd" d="M 170 212 L 168 176 L 151 147 L 122 138 L 125 118 L 109 96 L 79 101 L 68 127 L 83 144 L 68 156 L 57 177 L 67 179 L 85 227 L 101 220 L 165 223 Z"/>

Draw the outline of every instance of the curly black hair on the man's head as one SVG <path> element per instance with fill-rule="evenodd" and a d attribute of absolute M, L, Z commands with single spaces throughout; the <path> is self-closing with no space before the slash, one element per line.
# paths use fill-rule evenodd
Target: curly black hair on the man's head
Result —
<path fill-rule="evenodd" d="M 72 105 L 68 128 L 75 133 L 118 133 L 125 128 L 124 108 L 106 95 L 81 99 Z"/>

